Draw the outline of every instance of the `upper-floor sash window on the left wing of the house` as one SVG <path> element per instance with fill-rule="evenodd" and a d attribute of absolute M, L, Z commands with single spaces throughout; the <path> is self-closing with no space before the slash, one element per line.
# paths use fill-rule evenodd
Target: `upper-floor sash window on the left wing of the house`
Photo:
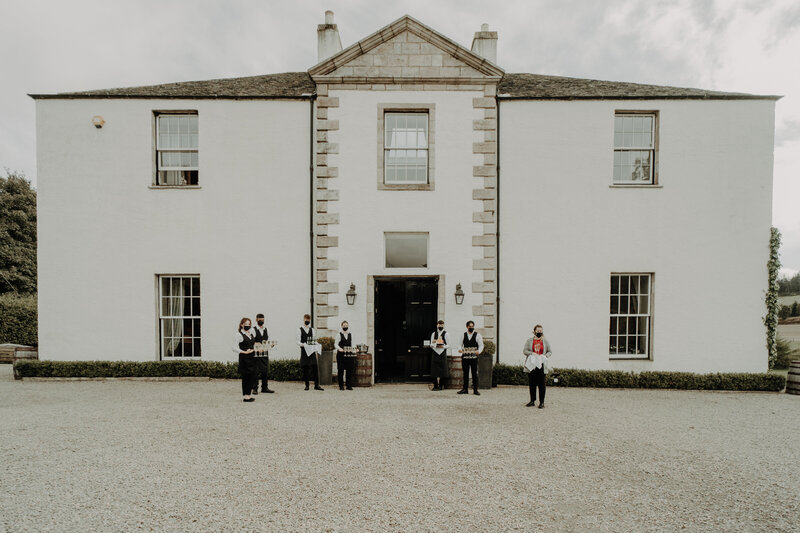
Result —
<path fill-rule="evenodd" d="M 156 114 L 156 185 L 198 185 L 197 113 Z"/>

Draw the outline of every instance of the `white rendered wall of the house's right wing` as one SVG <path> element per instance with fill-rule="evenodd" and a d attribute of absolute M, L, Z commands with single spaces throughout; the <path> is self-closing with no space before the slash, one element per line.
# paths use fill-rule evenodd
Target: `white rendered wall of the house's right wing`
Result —
<path fill-rule="evenodd" d="M 610 188 L 614 111 L 659 111 L 659 182 Z M 774 102 L 500 105 L 500 359 L 533 325 L 556 367 L 767 369 Z M 654 272 L 652 361 L 611 361 L 609 276 Z"/>

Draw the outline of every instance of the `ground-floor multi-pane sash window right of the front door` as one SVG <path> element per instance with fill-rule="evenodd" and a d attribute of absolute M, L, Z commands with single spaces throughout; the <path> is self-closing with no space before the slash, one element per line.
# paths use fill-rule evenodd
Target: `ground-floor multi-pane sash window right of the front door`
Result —
<path fill-rule="evenodd" d="M 611 358 L 650 358 L 652 291 L 652 274 L 611 274 Z"/>

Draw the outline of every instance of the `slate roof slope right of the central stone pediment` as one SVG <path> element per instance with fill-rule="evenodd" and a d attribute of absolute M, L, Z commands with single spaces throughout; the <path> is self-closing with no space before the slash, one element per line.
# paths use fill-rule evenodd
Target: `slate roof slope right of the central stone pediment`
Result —
<path fill-rule="evenodd" d="M 727 93 L 662 85 L 618 81 L 587 80 L 542 74 L 506 73 L 497 86 L 497 94 L 509 98 L 537 100 L 637 100 L 637 99 L 707 99 L 707 100 L 777 100 L 780 96 Z"/>

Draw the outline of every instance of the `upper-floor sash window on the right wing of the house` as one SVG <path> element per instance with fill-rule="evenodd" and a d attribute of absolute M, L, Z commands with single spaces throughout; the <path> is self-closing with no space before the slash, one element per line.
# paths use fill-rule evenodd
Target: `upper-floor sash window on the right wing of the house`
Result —
<path fill-rule="evenodd" d="M 656 173 L 655 112 L 622 112 L 614 116 L 614 184 L 652 185 Z"/>

